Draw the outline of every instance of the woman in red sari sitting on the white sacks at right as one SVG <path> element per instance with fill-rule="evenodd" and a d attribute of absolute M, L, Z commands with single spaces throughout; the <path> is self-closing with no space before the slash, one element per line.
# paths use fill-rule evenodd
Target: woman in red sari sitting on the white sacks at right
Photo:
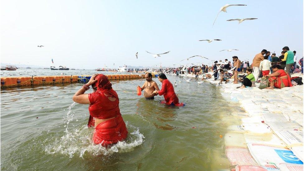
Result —
<path fill-rule="evenodd" d="M 265 89 L 273 89 L 276 88 L 283 88 L 283 87 L 292 87 L 291 79 L 289 74 L 284 69 L 281 69 L 280 65 L 273 65 L 272 67 L 273 74 L 268 74 L 266 77 L 270 77 L 270 87 Z"/>

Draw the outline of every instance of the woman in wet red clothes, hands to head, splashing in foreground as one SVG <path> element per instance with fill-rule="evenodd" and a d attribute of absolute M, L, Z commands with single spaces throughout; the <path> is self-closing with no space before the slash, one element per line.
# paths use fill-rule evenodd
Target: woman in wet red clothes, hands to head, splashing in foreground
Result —
<path fill-rule="evenodd" d="M 92 85 L 93 93 L 84 94 Z M 128 131 L 119 109 L 117 93 L 103 74 L 95 74 L 73 96 L 73 101 L 89 104 L 88 127 L 94 126 L 93 142 L 108 146 L 126 139 Z"/>

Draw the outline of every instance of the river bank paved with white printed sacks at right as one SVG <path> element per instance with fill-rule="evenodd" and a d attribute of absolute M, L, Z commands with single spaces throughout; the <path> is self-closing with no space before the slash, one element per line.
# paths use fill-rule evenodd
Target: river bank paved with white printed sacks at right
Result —
<path fill-rule="evenodd" d="M 266 90 L 223 84 L 246 115 L 228 128 L 226 156 L 236 170 L 303 170 L 303 85 Z M 276 168 L 276 169 L 275 169 Z"/>

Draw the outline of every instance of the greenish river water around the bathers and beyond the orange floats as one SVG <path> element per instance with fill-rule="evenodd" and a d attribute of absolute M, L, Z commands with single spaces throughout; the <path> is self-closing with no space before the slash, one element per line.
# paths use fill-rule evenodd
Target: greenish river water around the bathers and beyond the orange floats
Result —
<path fill-rule="evenodd" d="M 56 75 L 50 72 L 41 71 Z M 93 129 L 86 126 L 88 105 L 72 101 L 82 84 L 1 88 L 1 170 L 228 169 L 221 135 L 228 126 L 240 124 L 238 115 L 244 111 L 223 99 L 219 87 L 167 77 L 177 82 L 175 92 L 184 107 L 161 104 L 163 96 L 150 101 L 137 96 L 136 86 L 144 79 L 112 81 L 129 133 L 110 149 L 93 145 Z"/>

